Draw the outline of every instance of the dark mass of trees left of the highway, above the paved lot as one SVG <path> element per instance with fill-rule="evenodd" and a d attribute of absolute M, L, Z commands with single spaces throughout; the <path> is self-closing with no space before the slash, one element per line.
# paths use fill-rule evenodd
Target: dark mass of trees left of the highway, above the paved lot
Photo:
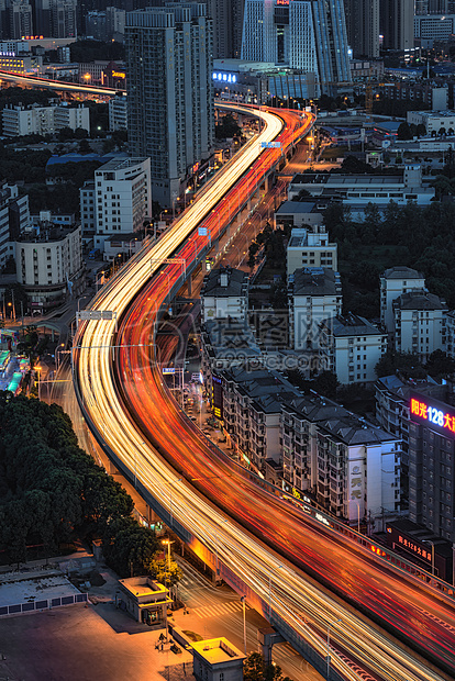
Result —
<path fill-rule="evenodd" d="M 133 517 L 133 500 L 77 444 L 56 404 L 0 393 L 0 555 L 26 560 L 27 545 L 102 539 L 120 576 L 156 571 L 155 534 Z"/>

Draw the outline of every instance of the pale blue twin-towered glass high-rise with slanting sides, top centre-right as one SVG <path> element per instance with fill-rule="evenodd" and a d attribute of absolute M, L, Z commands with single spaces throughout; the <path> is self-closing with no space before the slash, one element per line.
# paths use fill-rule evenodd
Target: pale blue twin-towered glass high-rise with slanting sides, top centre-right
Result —
<path fill-rule="evenodd" d="M 312 71 L 322 88 L 349 81 L 343 0 L 246 0 L 242 58 Z"/>

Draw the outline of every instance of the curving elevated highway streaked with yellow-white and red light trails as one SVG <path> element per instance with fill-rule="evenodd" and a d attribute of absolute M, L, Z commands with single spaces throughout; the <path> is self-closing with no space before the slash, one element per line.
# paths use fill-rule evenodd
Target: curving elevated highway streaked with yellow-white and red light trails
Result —
<path fill-rule="evenodd" d="M 98 442 L 165 522 L 322 673 L 330 627 L 332 679 L 448 679 L 447 670 L 455 669 L 452 599 L 377 562 L 349 537 L 255 484 L 223 459 L 163 384 L 155 332 L 170 297 L 313 123 L 296 112 L 255 115 L 265 124 L 260 135 L 211 180 L 165 238 L 134 256 L 92 301 L 92 310 L 114 311 L 120 326 L 90 321 L 78 330 L 73 365 L 80 406 Z M 280 148 L 262 150 L 262 142 L 275 139 Z M 207 236 L 198 226 L 207 227 Z"/>

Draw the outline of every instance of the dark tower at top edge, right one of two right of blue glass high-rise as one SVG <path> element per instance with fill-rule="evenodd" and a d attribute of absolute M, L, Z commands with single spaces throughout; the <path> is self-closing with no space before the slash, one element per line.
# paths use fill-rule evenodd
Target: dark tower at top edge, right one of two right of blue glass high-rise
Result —
<path fill-rule="evenodd" d="M 379 27 L 385 49 L 412 49 L 414 0 L 380 0 Z"/>

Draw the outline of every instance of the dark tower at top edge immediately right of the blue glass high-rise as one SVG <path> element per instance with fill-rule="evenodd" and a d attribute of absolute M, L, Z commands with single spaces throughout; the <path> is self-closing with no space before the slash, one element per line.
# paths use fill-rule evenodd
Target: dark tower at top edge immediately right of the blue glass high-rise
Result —
<path fill-rule="evenodd" d="M 379 57 L 379 0 L 344 0 L 354 57 Z"/>

